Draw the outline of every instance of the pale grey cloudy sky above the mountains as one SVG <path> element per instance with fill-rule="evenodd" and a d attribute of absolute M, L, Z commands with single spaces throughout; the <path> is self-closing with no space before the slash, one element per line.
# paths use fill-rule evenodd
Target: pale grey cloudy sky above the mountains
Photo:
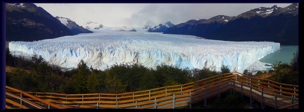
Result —
<path fill-rule="evenodd" d="M 133 26 L 143 27 L 147 21 L 156 25 L 171 21 L 174 25 L 191 19 L 209 19 L 217 15 L 237 16 L 259 7 L 287 7 L 291 3 L 267 4 L 38 4 L 51 15 L 69 18 L 78 25 L 92 21 L 106 27 Z"/>

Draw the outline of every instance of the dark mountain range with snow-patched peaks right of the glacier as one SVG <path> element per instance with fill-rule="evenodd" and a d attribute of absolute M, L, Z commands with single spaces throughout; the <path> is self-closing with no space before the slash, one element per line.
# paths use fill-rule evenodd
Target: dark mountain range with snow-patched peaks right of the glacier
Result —
<path fill-rule="evenodd" d="M 208 20 L 189 20 L 163 34 L 195 35 L 222 41 L 272 41 L 299 45 L 299 5 L 260 7 L 235 17 L 217 15 Z"/>

